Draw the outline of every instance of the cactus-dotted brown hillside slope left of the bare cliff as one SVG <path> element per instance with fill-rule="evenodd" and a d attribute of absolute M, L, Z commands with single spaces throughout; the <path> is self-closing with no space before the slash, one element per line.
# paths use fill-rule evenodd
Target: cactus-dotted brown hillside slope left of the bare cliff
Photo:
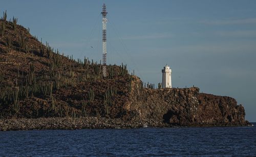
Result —
<path fill-rule="evenodd" d="M 55 52 L 27 29 L 0 20 L 0 117 L 125 117 L 129 98 L 126 66 L 75 61 Z M 121 116 L 122 115 L 122 116 Z"/>

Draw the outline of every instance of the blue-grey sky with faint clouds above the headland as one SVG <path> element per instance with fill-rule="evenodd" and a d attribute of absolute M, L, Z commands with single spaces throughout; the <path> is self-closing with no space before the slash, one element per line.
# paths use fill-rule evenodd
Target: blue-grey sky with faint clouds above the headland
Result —
<path fill-rule="evenodd" d="M 0 13 L 65 55 L 100 62 L 102 4 L 108 12 L 107 62 L 127 64 L 142 81 L 235 98 L 256 122 L 256 1 L 254 0 L 1 0 Z"/>

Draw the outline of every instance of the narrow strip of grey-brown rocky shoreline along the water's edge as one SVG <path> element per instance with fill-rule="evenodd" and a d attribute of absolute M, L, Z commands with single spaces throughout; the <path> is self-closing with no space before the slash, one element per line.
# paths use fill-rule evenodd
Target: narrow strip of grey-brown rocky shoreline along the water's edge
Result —
<path fill-rule="evenodd" d="M 198 126 L 238 126 L 238 125 L 191 125 Z M 241 125 L 239 125 L 241 126 Z M 251 126 L 249 123 L 244 126 Z M 87 118 L 37 118 L 37 119 L 0 119 L 0 131 L 11 130 L 46 130 L 46 129 L 118 129 L 143 127 L 177 127 L 155 120 L 141 119 L 124 121 L 122 119 L 108 119 L 96 117 Z M 178 126 L 180 127 L 180 126 Z M 183 126 L 185 127 L 185 126 Z"/>

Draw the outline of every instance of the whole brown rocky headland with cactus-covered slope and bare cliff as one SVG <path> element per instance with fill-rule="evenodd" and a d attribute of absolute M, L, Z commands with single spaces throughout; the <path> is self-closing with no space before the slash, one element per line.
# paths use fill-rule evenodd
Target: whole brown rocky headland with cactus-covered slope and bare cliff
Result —
<path fill-rule="evenodd" d="M 154 89 L 126 70 L 84 57 L 75 61 L 29 33 L 17 19 L 0 20 L 0 119 L 97 117 L 179 126 L 248 125 L 230 97 L 199 88 Z M 0 123 L 1 124 L 1 123 Z M 0 129 L 1 130 L 1 129 Z"/>

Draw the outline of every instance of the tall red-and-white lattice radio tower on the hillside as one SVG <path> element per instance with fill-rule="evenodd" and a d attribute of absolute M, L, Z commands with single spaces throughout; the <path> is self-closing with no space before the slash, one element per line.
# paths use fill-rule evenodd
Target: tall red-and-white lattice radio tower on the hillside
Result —
<path fill-rule="evenodd" d="M 103 4 L 102 6 L 102 49 L 103 49 L 103 66 L 102 66 L 102 72 L 103 77 L 106 77 L 106 5 Z"/>

